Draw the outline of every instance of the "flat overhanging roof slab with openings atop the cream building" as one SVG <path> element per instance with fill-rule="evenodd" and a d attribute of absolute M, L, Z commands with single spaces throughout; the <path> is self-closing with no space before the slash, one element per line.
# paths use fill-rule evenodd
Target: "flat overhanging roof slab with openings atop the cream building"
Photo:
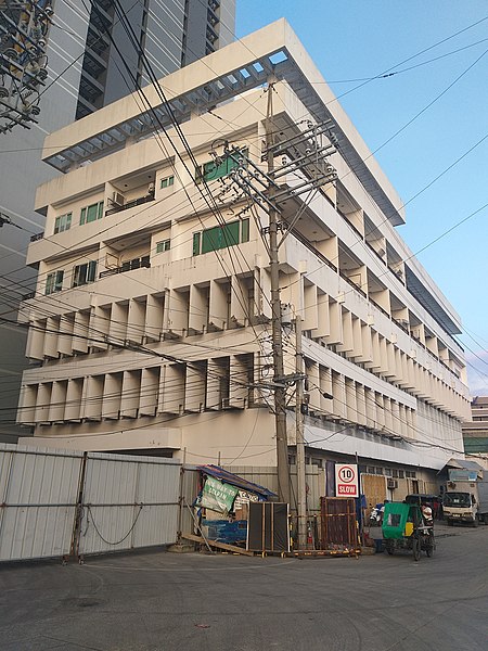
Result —
<path fill-rule="evenodd" d="M 164 77 L 157 88 L 145 87 L 143 99 L 133 93 L 52 133 L 43 159 L 66 173 L 271 79 L 286 81 L 318 122 L 334 123 L 338 150 L 349 167 L 391 224 L 403 224 L 399 196 L 283 18 Z"/>

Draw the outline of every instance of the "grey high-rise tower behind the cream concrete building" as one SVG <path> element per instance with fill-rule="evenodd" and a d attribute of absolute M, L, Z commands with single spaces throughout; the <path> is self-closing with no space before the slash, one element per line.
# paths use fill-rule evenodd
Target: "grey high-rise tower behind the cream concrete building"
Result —
<path fill-rule="evenodd" d="M 21 7 L 0 8 L 0 24 L 11 29 L 7 21 L 15 18 Z M 35 190 L 59 176 L 40 159 L 46 136 L 133 91 L 136 81 L 146 84 L 140 51 L 162 77 L 229 43 L 235 23 L 235 0 L 54 0 L 52 8 L 46 51 L 49 76 L 40 88 L 38 124 L 0 132 L 0 213 L 15 224 L 3 226 L 0 242 L 0 438 L 7 441 L 15 439 L 8 436 L 16 433 L 13 423 L 26 341 L 25 332 L 9 321 L 16 318 L 21 296 L 35 286 L 35 275 L 25 267 L 29 238 L 44 224 L 44 216 L 34 212 Z M 120 12 L 132 34 L 126 31 Z M 3 41 L 0 55 L 2 46 Z M 3 84 L 8 84 L 7 76 L 0 80 L 0 90 Z"/>

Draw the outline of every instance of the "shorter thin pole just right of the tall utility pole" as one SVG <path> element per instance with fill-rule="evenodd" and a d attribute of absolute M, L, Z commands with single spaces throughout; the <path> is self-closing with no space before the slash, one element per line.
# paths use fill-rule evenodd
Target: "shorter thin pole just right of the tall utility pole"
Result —
<path fill-rule="evenodd" d="M 298 494 L 298 549 L 305 549 L 307 545 L 307 481 L 305 464 L 305 437 L 304 437 L 304 357 L 301 355 L 301 317 L 295 317 L 296 334 L 296 393 L 295 393 L 295 419 L 296 419 L 296 476 Z"/>

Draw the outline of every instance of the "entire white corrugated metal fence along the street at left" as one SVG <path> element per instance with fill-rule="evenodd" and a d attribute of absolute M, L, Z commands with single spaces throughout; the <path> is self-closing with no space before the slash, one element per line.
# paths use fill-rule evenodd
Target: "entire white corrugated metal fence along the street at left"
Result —
<path fill-rule="evenodd" d="M 196 475 L 171 459 L 0 444 L 0 561 L 176 542 Z"/>

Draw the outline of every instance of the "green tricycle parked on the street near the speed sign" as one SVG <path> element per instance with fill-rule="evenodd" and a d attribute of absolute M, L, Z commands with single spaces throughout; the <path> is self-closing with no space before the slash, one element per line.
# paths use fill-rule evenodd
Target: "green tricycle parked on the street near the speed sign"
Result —
<path fill-rule="evenodd" d="M 419 561 L 421 551 L 425 551 L 427 557 L 434 553 L 434 523 L 419 505 L 385 503 L 382 532 L 389 554 L 397 549 L 409 549 L 413 551 L 413 559 Z"/>

